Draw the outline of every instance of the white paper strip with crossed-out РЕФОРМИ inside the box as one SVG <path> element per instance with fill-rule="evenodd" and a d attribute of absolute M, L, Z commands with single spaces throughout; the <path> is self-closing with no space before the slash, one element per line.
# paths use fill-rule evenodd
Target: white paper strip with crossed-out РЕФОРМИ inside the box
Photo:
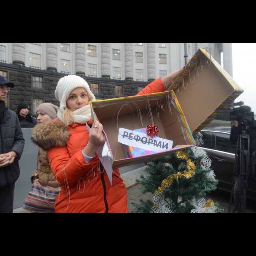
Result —
<path fill-rule="evenodd" d="M 153 151 L 155 153 L 170 151 L 173 148 L 172 140 L 161 139 L 158 137 L 151 138 L 146 134 L 130 131 L 124 128 L 119 129 L 118 142 L 131 147 Z"/>

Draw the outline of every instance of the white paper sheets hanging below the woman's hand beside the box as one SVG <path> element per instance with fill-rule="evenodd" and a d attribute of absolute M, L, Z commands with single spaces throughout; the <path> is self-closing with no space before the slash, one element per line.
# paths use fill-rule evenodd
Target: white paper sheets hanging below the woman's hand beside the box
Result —
<path fill-rule="evenodd" d="M 88 124 L 86 124 L 88 132 L 90 132 L 91 128 Z M 110 155 L 110 150 L 108 143 L 105 142 L 102 146 L 100 146 L 97 150 L 97 155 L 99 160 L 101 161 L 102 165 L 105 168 L 106 173 L 108 174 L 109 181 L 112 185 L 112 174 L 113 174 L 113 160 Z"/>

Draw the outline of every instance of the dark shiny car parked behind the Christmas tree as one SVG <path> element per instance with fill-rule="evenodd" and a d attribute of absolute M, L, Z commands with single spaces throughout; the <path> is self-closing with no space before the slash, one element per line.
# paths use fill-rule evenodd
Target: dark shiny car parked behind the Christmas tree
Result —
<path fill-rule="evenodd" d="M 218 188 L 231 192 L 237 143 L 230 142 L 231 129 L 226 127 L 206 128 L 201 131 L 204 145 L 201 146 L 211 158 L 211 169 L 219 180 Z M 256 200 L 256 181 L 249 180 L 248 198 Z"/>

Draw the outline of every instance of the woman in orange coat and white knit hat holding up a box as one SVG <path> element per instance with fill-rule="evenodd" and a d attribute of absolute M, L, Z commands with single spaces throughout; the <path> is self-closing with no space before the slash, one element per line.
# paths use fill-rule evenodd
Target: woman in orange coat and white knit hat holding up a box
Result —
<path fill-rule="evenodd" d="M 165 91 L 184 69 L 159 78 L 139 94 Z M 52 172 L 62 189 L 56 199 L 57 213 L 128 213 L 127 192 L 119 170 L 113 170 L 112 185 L 96 151 L 106 138 L 99 121 L 91 123 L 90 101 L 95 97 L 79 76 L 61 78 L 56 91 L 60 101 L 58 119 L 39 124 L 33 141 L 48 150 Z M 86 123 L 91 126 L 90 132 Z"/>

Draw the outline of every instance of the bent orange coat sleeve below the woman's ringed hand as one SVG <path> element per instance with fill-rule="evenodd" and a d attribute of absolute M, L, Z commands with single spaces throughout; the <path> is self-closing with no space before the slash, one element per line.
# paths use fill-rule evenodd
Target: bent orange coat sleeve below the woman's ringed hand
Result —
<path fill-rule="evenodd" d="M 56 147 L 47 151 L 52 173 L 59 184 L 65 185 L 63 170 L 65 170 L 66 182 L 68 181 L 69 186 L 74 185 L 80 178 L 90 172 L 95 159 L 92 159 L 91 162 L 87 164 L 84 161 L 82 150 L 83 148 L 78 150 L 72 157 L 70 157 L 67 147 Z M 96 157 L 97 155 L 95 154 L 95 158 Z"/>

